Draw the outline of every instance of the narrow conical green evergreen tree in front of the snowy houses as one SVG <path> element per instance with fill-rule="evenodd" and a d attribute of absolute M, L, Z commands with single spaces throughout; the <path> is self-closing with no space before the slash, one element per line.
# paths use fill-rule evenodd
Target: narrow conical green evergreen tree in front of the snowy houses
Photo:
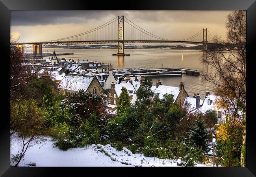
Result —
<path fill-rule="evenodd" d="M 122 115 L 126 112 L 126 109 L 130 106 L 129 95 L 127 89 L 122 87 L 122 92 L 118 98 L 117 115 Z"/>

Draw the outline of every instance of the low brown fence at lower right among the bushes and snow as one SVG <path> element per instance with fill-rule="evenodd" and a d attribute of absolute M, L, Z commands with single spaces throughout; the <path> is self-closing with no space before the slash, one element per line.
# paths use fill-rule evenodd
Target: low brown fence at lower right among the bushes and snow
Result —
<path fill-rule="evenodd" d="M 201 162 L 203 164 L 213 166 L 213 163 L 216 166 L 221 166 L 221 167 L 234 167 L 237 164 L 236 160 L 229 160 L 228 163 L 223 163 L 224 160 L 221 157 L 213 157 L 210 155 L 201 155 Z"/>

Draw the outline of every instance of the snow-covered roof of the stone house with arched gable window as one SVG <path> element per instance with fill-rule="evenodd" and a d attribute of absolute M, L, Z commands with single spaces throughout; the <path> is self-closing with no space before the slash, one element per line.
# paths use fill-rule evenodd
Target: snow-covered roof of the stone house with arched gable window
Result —
<path fill-rule="evenodd" d="M 85 76 L 85 75 L 67 75 L 65 76 L 61 83 L 59 83 L 59 88 L 66 90 L 87 90 L 91 81 L 93 80 L 93 76 Z"/>

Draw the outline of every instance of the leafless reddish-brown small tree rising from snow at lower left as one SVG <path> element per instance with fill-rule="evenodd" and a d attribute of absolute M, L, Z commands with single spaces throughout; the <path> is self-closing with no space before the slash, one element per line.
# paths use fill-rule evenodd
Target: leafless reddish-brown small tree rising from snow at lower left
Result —
<path fill-rule="evenodd" d="M 47 130 L 44 127 L 43 109 L 31 100 L 17 99 L 10 106 L 10 141 L 17 140 L 20 152 L 14 155 L 13 166 L 18 166 L 28 148 L 44 141 Z"/>

